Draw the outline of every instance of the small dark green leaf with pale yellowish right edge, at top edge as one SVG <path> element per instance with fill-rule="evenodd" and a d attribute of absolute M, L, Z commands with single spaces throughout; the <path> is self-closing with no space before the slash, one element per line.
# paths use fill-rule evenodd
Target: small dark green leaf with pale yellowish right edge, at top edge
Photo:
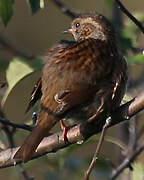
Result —
<path fill-rule="evenodd" d="M 40 8 L 44 8 L 44 0 L 28 0 L 32 13 L 35 14 Z"/>

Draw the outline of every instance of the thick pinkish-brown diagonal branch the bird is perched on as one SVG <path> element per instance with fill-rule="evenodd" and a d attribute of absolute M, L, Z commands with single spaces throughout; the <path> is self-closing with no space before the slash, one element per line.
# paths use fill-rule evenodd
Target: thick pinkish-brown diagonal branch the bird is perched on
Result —
<path fill-rule="evenodd" d="M 114 126 L 129 120 L 132 116 L 144 109 L 144 92 L 133 100 L 119 107 L 111 116 L 112 122 L 110 126 Z M 62 132 L 52 134 L 43 139 L 39 144 L 37 151 L 35 152 L 33 159 L 38 158 L 47 153 L 56 152 L 59 149 L 68 147 L 79 141 L 86 141 L 90 136 L 98 134 L 102 131 L 105 121 L 93 121 L 78 124 L 71 128 L 67 133 L 68 142 L 65 142 L 62 137 Z M 109 126 L 109 127 L 110 127 Z M 14 161 L 13 156 L 19 147 L 7 149 L 0 152 L 0 168 L 13 166 L 20 163 L 20 161 Z"/>

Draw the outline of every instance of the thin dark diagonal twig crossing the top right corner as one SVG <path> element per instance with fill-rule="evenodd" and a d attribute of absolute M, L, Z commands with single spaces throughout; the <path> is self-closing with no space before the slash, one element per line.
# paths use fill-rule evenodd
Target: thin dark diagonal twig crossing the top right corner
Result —
<path fill-rule="evenodd" d="M 121 11 L 126 14 L 138 27 L 139 29 L 144 33 L 144 26 L 142 25 L 142 23 L 140 21 L 138 21 L 125 7 L 124 5 L 119 1 L 119 0 L 115 0 L 117 2 L 117 4 L 119 5 L 119 8 L 121 9 Z"/>

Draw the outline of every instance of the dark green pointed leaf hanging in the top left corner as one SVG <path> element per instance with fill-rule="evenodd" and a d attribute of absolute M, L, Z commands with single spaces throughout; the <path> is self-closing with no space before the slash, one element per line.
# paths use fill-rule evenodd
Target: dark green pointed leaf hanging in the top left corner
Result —
<path fill-rule="evenodd" d="M 13 15 L 14 0 L 0 0 L 0 16 L 6 26 Z"/>

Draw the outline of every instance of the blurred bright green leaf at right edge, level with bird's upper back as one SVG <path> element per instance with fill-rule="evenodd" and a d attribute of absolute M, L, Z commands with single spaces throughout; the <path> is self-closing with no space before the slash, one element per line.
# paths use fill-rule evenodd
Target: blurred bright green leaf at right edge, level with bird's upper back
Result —
<path fill-rule="evenodd" d="M 132 57 L 125 57 L 128 63 L 137 63 L 143 64 L 144 63 L 144 54 L 137 54 Z"/>

